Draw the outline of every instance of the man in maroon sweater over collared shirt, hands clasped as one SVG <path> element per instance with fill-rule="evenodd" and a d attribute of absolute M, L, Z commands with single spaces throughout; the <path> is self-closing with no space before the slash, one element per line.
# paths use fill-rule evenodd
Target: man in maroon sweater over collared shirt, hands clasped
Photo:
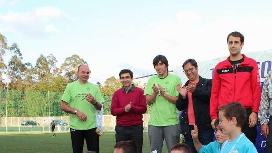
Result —
<path fill-rule="evenodd" d="M 115 140 L 136 142 L 138 152 L 142 153 L 143 121 L 142 114 L 147 111 L 146 98 L 141 88 L 132 84 L 133 73 L 124 69 L 119 73 L 123 87 L 112 97 L 111 114 L 116 115 Z"/>

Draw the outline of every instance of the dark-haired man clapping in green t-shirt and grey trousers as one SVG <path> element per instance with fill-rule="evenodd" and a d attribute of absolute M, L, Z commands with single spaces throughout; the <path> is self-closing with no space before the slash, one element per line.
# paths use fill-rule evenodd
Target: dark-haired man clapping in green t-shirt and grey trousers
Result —
<path fill-rule="evenodd" d="M 168 74 L 168 61 L 165 56 L 158 55 L 153 59 L 153 66 L 158 73 L 148 80 L 144 95 L 151 107 L 148 122 L 148 136 L 151 152 L 161 153 L 165 138 L 168 152 L 179 143 L 180 125 L 175 103 L 178 99 L 176 86 L 181 85 L 179 77 Z"/>

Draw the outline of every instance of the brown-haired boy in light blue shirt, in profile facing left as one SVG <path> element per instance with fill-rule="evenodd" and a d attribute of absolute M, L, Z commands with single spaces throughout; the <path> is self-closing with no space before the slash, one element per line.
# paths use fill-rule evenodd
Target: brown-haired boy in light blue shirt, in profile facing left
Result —
<path fill-rule="evenodd" d="M 218 108 L 219 127 L 229 138 L 222 144 L 220 153 L 258 153 L 253 143 L 242 133 L 246 110 L 238 102 Z"/>

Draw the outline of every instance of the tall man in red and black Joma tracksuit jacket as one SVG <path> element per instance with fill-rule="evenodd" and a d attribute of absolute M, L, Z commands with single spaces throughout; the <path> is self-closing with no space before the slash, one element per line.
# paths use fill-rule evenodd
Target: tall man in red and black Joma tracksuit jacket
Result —
<path fill-rule="evenodd" d="M 220 106 L 239 102 L 247 110 L 242 128 L 246 137 L 255 144 L 256 122 L 261 100 L 261 84 L 257 62 L 241 54 L 244 36 L 232 32 L 227 37 L 230 56 L 215 66 L 210 99 L 211 125 L 218 118 Z M 214 128 L 214 127 L 213 127 Z"/>

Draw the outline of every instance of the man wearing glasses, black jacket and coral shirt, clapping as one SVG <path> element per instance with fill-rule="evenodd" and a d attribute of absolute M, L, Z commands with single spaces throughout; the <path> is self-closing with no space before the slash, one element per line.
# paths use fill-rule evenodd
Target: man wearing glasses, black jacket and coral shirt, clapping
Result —
<path fill-rule="evenodd" d="M 194 59 L 187 59 L 182 67 L 189 80 L 183 87 L 176 87 L 179 92 L 176 108 L 183 110 L 181 130 L 185 143 L 193 153 L 197 153 L 191 136 L 193 125 L 198 126 L 198 139 L 203 145 L 212 142 L 214 136 L 209 114 L 212 80 L 199 76 L 198 64 Z"/>

